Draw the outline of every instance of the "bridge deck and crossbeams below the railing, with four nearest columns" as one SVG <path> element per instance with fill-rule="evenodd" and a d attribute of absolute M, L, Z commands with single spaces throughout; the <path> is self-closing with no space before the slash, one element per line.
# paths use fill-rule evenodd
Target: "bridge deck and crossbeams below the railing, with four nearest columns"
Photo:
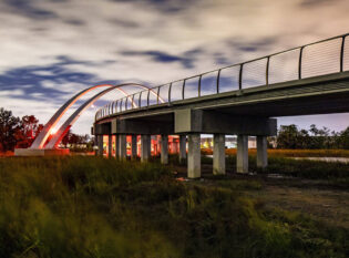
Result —
<path fill-rule="evenodd" d="M 270 117 L 341 112 L 349 112 L 348 72 L 125 111 L 96 121 L 94 134 L 187 135 L 188 176 L 198 177 L 199 134 L 214 134 L 217 173 L 225 171 L 224 135 L 238 135 L 237 171 L 244 173 L 249 135 L 257 136 L 257 163 L 267 164 L 266 136 L 277 133 Z"/>

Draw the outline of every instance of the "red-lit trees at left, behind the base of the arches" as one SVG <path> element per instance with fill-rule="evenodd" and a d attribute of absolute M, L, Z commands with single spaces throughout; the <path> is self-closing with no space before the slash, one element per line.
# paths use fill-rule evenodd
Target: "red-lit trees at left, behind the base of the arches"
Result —
<path fill-rule="evenodd" d="M 0 107 L 0 152 L 13 152 L 14 148 L 30 147 L 42 128 L 43 125 L 34 115 L 17 117 L 11 111 Z M 61 144 L 64 147 L 71 146 L 73 148 L 84 144 L 88 148 L 92 148 L 93 140 L 88 134 L 78 135 L 69 131 Z"/>

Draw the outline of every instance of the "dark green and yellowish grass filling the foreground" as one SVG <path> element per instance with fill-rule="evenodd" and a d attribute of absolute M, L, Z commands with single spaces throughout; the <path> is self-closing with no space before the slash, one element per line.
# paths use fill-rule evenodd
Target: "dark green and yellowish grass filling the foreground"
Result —
<path fill-rule="evenodd" d="M 347 229 L 156 164 L 0 159 L 0 257 L 348 257 Z"/>

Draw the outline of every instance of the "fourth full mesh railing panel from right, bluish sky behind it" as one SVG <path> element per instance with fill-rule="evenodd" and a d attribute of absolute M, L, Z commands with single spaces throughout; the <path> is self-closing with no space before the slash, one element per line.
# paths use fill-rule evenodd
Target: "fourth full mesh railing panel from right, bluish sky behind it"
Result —
<path fill-rule="evenodd" d="M 219 93 L 238 90 L 240 65 L 222 69 L 219 75 Z"/>

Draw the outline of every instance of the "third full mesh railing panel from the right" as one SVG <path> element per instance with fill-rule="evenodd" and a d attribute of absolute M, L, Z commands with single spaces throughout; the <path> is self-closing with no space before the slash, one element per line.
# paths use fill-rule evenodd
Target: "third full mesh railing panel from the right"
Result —
<path fill-rule="evenodd" d="M 267 59 L 245 63 L 243 69 L 243 89 L 266 84 Z"/>

